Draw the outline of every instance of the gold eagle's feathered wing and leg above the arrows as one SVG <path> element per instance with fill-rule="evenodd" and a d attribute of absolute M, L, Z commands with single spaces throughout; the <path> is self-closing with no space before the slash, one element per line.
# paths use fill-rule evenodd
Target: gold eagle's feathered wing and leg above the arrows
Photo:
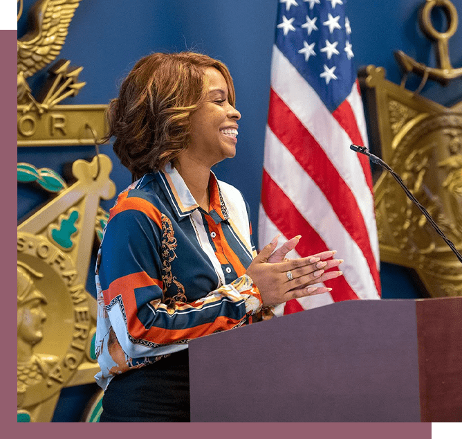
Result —
<path fill-rule="evenodd" d="M 18 103 L 35 101 L 26 78 L 53 62 L 62 49 L 69 24 L 81 0 L 37 0 L 30 8 L 28 32 L 18 39 Z M 17 0 L 18 15 L 22 14 L 23 0 Z"/>

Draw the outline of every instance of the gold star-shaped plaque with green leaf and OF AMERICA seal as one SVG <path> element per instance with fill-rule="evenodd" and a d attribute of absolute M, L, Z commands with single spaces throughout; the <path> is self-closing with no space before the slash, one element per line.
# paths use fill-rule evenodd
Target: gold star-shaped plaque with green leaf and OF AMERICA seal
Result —
<path fill-rule="evenodd" d="M 111 199 L 112 164 L 77 160 L 77 181 L 19 224 L 18 413 L 49 422 L 63 386 L 93 382 L 95 299 L 86 292 L 100 198 Z"/>

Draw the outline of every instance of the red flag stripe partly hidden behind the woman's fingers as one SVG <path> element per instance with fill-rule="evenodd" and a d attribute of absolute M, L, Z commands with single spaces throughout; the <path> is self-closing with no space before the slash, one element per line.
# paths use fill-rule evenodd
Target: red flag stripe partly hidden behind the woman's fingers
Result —
<path fill-rule="evenodd" d="M 261 187 L 261 204 L 265 209 L 266 215 L 268 215 L 268 218 L 275 224 L 277 229 L 287 239 L 293 238 L 299 233 L 303 234 L 302 240 L 297 244 L 297 252 L 300 256 L 309 256 L 310 254 L 329 250 L 320 235 L 304 219 L 292 204 L 292 201 L 277 186 L 265 169 L 263 170 Z M 290 221 L 287 220 L 288 218 L 290 218 Z M 324 285 L 333 289 L 331 296 L 335 302 L 358 298 L 344 276 L 328 280 Z"/>

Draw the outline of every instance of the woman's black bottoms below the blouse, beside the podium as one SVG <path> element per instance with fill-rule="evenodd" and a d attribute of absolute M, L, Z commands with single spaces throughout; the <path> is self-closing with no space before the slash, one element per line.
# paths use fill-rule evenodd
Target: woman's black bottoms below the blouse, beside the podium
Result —
<path fill-rule="evenodd" d="M 100 422 L 190 422 L 187 349 L 111 379 Z"/>

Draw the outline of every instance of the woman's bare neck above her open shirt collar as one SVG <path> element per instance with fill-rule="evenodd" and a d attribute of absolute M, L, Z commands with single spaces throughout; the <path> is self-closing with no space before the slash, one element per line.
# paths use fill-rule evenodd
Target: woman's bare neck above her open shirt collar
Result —
<path fill-rule="evenodd" d="M 174 168 L 185 181 L 197 204 L 208 212 L 210 168 L 186 154 L 174 161 Z"/>

